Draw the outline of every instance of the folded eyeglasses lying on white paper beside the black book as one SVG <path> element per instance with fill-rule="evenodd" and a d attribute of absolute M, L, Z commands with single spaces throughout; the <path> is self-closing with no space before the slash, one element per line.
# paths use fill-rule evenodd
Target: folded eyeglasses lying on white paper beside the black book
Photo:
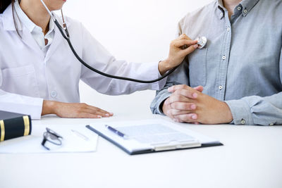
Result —
<path fill-rule="evenodd" d="M 46 127 L 47 132 L 43 133 L 43 140 L 42 140 L 42 146 L 44 146 L 45 149 L 49 149 L 46 144 L 49 142 L 51 144 L 55 144 L 56 146 L 61 146 L 62 144 L 62 139 L 60 134 L 54 132 L 53 130 L 50 130 L 48 127 Z"/>

